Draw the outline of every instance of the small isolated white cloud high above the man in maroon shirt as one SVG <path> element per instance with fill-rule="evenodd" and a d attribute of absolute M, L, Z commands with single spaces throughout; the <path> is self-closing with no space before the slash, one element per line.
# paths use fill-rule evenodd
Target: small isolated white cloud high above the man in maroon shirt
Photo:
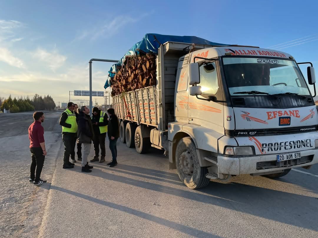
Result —
<path fill-rule="evenodd" d="M 57 50 L 53 50 L 52 52 L 43 50 L 38 48 L 35 52 L 31 53 L 33 58 L 39 59 L 48 64 L 49 68 L 53 71 L 61 67 L 67 57 L 64 55 L 60 55 Z"/>

